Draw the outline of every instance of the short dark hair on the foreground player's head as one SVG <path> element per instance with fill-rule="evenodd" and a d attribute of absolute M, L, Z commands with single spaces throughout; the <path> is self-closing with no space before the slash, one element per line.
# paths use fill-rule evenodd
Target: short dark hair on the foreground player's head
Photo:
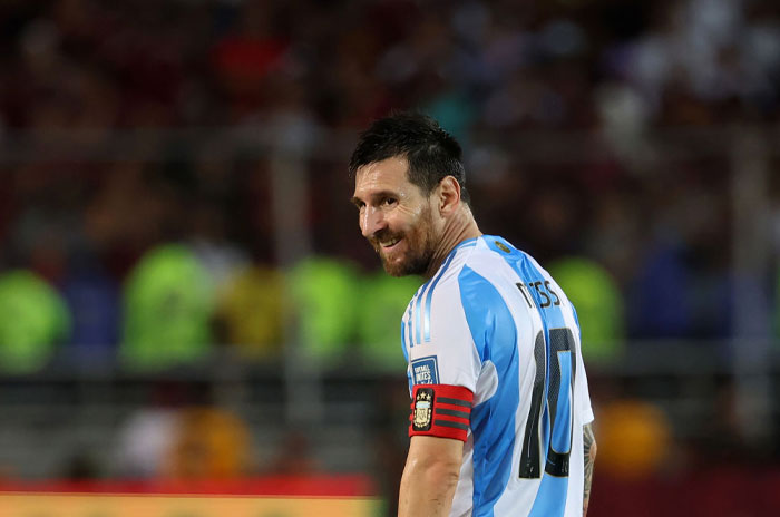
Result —
<path fill-rule="evenodd" d="M 469 204 L 460 145 L 431 117 L 402 111 L 376 120 L 360 135 L 350 158 L 350 175 L 363 165 L 393 156 L 407 159 L 408 179 L 425 195 L 446 176 L 452 176 L 460 185 L 460 198 Z"/>

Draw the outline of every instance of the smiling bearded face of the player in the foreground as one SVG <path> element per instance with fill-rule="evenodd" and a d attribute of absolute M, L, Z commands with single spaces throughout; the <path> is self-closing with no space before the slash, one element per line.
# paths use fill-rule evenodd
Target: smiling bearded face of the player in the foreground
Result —
<path fill-rule="evenodd" d="M 392 276 L 423 274 L 436 251 L 431 202 L 409 182 L 408 167 L 404 158 L 387 158 L 360 167 L 354 179 L 360 231 Z"/>

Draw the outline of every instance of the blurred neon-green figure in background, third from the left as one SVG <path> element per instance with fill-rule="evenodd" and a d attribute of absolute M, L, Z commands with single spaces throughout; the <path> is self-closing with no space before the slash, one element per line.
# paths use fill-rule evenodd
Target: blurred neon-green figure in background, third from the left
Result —
<path fill-rule="evenodd" d="M 292 315 L 303 355 L 333 364 L 354 339 L 358 272 L 324 256 L 304 258 L 289 272 Z"/>

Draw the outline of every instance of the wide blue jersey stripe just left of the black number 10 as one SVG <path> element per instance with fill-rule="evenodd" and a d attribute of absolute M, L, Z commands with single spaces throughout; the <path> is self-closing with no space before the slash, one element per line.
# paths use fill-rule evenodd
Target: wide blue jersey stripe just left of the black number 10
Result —
<path fill-rule="evenodd" d="M 493 517 L 513 471 L 515 413 L 520 402 L 517 328 L 495 286 L 468 266 L 459 276 L 460 300 L 479 357 L 498 374 L 496 394 L 471 410 L 475 517 Z M 490 347 L 488 347 L 490 343 Z"/>

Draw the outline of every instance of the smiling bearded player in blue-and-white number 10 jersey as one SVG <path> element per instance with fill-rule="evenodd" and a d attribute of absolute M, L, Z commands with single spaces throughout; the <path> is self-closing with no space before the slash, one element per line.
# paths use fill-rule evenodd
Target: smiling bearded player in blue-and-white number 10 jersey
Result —
<path fill-rule="evenodd" d="M 560 287 L 481 234 L 460 146 L 432 119 L 376 121 L 350 173 L 360 230 L 384 270 L 428 279 L 401 321 L 412 411 L 399 515 L 584 515 L 593 411 Z"/>

